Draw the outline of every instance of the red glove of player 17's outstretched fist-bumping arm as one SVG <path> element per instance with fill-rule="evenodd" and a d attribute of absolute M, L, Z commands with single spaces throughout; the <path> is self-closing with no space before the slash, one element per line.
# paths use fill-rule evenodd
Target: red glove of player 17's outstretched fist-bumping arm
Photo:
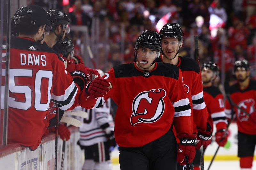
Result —
<path fill-rule="evenodd" d="M 109 86 L 109 81 L 102 77 L 97 77 L 86 84 L 85 92 L 88 94 L 88 98 L 97 99 L 107 94 Z"/>

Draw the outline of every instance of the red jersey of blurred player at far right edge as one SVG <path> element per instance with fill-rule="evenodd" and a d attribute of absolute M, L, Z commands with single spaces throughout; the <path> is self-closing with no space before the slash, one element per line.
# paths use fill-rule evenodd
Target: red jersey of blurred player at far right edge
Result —
<path fill-rule="evenodd" d="M 252 114 L 255 112 L 256 107 L 256 81 L 250 80 L 250 84 L 247 88 L 241 90 L 239 88 L 239 84 L 236 83 L 232 85 L 230 88 L 230 96 L 231 99 L 236 103 L 237 106 L 244 109 L 247 113 Z M 228 100 L 226 100 L 226 109 L 225 113 L 227 115 L 227 118 L 231 118 L 231 107 Z M 256 134 L 256 124 L 249 121 L 247 116 L 243 111 L 237 109 L 234 107 L 234 110 L 236 112 L 236 123 L 238 126 L 238 131 L 254 135 Z"/>

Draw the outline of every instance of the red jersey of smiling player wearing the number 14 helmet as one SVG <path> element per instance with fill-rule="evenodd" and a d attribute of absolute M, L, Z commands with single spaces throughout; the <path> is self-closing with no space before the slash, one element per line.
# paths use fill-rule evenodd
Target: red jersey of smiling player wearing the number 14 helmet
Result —
<path fill-rule="evenodd" d="M 163 62 L 162 55 L 156 61 Z M 191 128 L 193 132 L 197 132 L 196 126 L 201 130 L 206 130 L 208 112 L 204 103 L 203 83 L 200 67 L 197 62 L 188 57 L 179 56 L 179 63 L 183 75 L 185 90 L 188 94 L 190 106 L 192 108 Z M 194 125 L 193 125 L 194 124 Z"/>

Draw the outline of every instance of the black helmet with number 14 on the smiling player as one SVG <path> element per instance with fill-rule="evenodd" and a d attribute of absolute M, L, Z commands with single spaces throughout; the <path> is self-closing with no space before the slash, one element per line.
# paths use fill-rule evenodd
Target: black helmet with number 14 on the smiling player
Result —
<path fill-rule="evenodd" d="M 159 32 L 161 38 L 178 38 L 179 41 L 183 40 L 183 31 L 181 26 L 177 23 L 166 23 Z"/>

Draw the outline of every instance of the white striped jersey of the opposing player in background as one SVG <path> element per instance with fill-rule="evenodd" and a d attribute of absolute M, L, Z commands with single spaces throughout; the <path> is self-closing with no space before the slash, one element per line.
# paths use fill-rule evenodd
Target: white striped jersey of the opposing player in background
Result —
<path fill-rule="evenodd" d="M 108 123 L 111 130 L 114 131 L 114 122 L 112 115 L 110 114 L 110 98 L 100 107 L 96 109 L 84 109 L 81 106 L 75 108 L 75 110 L 83 110 L 88 113 L 87 118 L 77 117 L 82 122 L 79 128 L 80 131 L 80 144 L 83 146 L 90 146 L 99 142 L 105 142 L 106 133 L 100 128 L 101 125 Z"/>

